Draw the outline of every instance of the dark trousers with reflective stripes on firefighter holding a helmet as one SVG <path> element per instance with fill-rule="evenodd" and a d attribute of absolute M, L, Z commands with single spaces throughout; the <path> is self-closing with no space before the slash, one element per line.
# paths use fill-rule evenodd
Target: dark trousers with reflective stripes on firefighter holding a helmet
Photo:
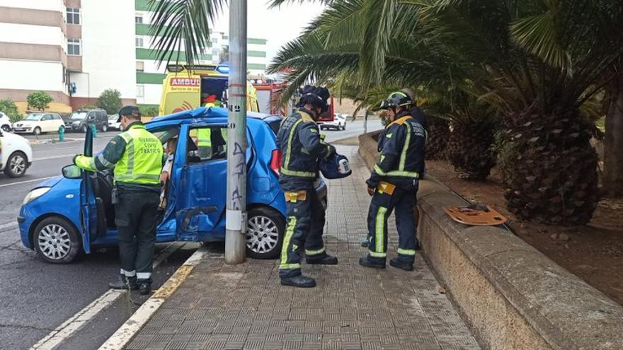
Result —
<path fill-rule="evenodd" d="M 301 274 L 303 254 L 307 259 L 320 259 L 326 255 L 322 241 L 325 212 L 312 182 L 302 189 L 282 189 L 287 206 L 287 228 L 279 276 L 285 278 Z"/>

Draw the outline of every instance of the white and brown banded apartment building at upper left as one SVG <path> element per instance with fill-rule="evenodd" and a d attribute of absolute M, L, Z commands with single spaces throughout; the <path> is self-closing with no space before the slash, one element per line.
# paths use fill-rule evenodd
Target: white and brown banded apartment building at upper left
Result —
<path fill-rule="evenodd" d="M 50 110 L 94 104 L 107 88 L 136 102 L 135 27 L 127 0 L 0 0 L 0 98 L 46 91 Z"/>

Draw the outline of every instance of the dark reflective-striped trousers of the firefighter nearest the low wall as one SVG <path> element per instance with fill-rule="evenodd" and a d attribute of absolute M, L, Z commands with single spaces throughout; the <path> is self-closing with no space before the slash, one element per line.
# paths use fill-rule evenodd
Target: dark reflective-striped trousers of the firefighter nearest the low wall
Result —
<path fill-rule="evenodd" d="M 383 188 L 387 187 L 387 188 Z M 385 263 L 387 257 L 387 218 L 396 210 L 396 229 L 398 230 L 398 257 L 401 261 L 413 264 L 416 255 L 416 219 L 413 207 L 416 206 L 418 188 L 401 189 L 387 182 L 381 182 L 370 202 L 367 215 L 370 245 L 368 259 Z"/>

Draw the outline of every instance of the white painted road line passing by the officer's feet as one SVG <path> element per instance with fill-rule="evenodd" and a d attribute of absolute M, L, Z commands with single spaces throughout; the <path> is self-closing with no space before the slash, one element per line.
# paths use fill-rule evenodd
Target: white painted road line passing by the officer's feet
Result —
<path fill-rule="evenodd" d="M 166 258 L 168 258 L 173 252 L 183 247 L 185 243 L 170 243 L 164 250 L 159 252 L 154 259 L 154 269 L 163 262 Z M 78 311 L 72 317 L 69 317 L 68 320 L 56 327 L 52 332 L 47 334 L 44 338 L 42 338 L 37 344 L 31 347 L 31 350 L 52 350 L 59 344 L 61 344 L 65 339 L 72 337 L 72 335 L 77 332 L 82 326 L 86 325 L 88 322 L 93 320 L 98 313 L 112 305 L 124 295 L 126 291 L 120 291 L 116 289 L 109 289 L 105 293 L 103 293 L 99 298 L 94 300 L 92 303 L 86 305 L 82 310 Z"/>

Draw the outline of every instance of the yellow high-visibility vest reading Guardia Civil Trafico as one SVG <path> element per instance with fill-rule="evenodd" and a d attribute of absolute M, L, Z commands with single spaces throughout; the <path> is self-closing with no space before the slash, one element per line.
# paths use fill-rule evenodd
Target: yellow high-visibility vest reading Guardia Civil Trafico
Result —
<path fill-rule="evenodd" d="M 162 143 L 144 125 L 133 125 L 119 134 L 125 152 L 115 165 L 115 182 L 158 185 L 162 170 Z"/>

